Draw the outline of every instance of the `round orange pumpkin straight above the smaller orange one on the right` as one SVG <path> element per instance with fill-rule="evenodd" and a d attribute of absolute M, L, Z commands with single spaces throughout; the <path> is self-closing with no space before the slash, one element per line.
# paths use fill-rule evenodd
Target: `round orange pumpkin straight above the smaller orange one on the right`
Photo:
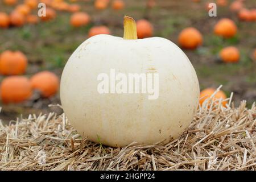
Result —
<path fill-rule="evenodd" d="M 233 20 L 222 18 L 214 26 L 214 33 L 224 38 L 232 38 L 237 34 L 237 26 Z"/>

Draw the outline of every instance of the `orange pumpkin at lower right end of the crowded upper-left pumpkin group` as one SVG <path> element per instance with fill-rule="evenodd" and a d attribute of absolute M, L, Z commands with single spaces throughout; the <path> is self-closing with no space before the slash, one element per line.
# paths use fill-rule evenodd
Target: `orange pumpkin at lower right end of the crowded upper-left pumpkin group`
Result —
<path fill-rule="evenodd" d="M 90 16 L 86 13 L 77 12 L 72 14 L 70 23 L 73 27 L 85 26 L 90 22 Z"/>

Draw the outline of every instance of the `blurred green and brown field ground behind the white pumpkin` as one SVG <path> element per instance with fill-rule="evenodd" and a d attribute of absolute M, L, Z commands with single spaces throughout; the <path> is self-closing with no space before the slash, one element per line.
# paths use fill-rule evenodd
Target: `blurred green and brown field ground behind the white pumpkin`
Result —
<path fill-rule="evenodd" d="M 0 0 L 0 12 L 10 14 L 15 6 L 24 1 L 19 0 L 14 6 L 7 6 Z M 230 11 L 234 1 L 227 0 L 227 5 L 217 6 L 217 17 L 209 17 L 206 5 L 208 2 L 192 0 L 156 0 L 151 8 L 146 0 L 124 0 L 125 6 L 120 10 L 112 9 L 112 1 L 108 7 L 98 10 L 93 0 L 57 1 L 67 2 L 69 5 L 80 6 L 80 11 L 90 16 L 90 23 L 86 26 L 73 27 L 70 24 L 72 13 L 55 8 L 56 17 L 37 24 L 24 24 L 20 27 L 11 26 L 0 28 L 0 53 L 6 50 L 21 51 L 28 59 L 28 67 L 24 75 L 28 78 L 40 71 L 51 71 L 59 78 L 72 52 L 88 38 L 89 29 L 93 26 L 104 25 L 114 36 L 123 36 L 123 15 L 132 16 L 135 20 L 147 19 L 154 27 L 152 36 L 160 36 L 178 43 L 180 32 L 186 27 L 195 27 L 203 36 L 203 44 L 193 50 L 184 49 L 196 69 L 199 77 L 200 89 L 217 88 L 223 85 L 222 90 L 229 97 L 234 92 L 234 104 L 247 100 L 249 106 L 256 100 L 256 60 L 253 51 L 256 48 L 256 21 L 242 21 L 237 12 Z M 255 0 L 243 1 L 246 9 L 255 9 Z M 31 10 L 30 14 L 37 14 L 38 9 Z M 234 20 L 238 31 L 229 39 L 221 38 L 213 33 L 214 24 L 221 18 Z M 235 46 L 240 51 L 238 63 L 226 64 L 220 60 L 218 53 L 222 48 Z M 178 61 L 178 60 L 177 60 Z M 0 80 L 6 76 L 0 76 Z M 59 93 L 49 98 L 42 98 L 35 92 L 28 101 L 18 104 L 4 104 L 0 118 L 10 121 L 16 117 L 27 117 L 28 114 L 49 113 L 62 110 L 49 104 L 60 104 Z"/>

